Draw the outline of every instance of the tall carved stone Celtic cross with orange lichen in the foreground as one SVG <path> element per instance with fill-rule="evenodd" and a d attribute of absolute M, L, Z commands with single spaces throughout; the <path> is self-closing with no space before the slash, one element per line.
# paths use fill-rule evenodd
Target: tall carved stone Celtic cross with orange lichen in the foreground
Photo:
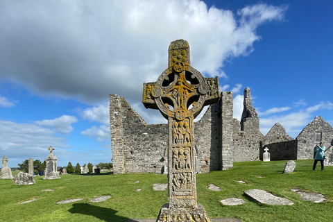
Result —
<path fill-rule="evenodd" d="M 162 221 L 210 221 L 196 202 L 194 118 L 205 105 L 219 101 L 219 78 L 204 78 L 190 65 L 189 44 L 169 46 L 169 67 L 155 83 L 144 83 L 142 103 L 168 119 L 168 194 L 157 217 Z"/>

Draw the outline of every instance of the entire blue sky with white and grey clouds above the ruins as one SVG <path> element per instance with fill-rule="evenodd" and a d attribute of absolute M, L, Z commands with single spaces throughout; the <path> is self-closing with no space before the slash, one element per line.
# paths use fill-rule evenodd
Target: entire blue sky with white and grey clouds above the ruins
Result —
<path fill-rule="evenodd" d="M 110 162 L 109 94 L 148 123 L 142 83 L 185 39 L 191 66 L 234 92 L 250 87 L 264 135 L 295 138 L 315 116 L 333 125 L 331 1 L 0 1 L 0 157 L 9 167 Z"/>

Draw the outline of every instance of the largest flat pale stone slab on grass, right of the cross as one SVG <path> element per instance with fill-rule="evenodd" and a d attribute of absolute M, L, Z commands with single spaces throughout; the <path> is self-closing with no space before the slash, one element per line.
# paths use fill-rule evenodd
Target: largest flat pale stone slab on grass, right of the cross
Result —
<path fill-rule="evenodd" d="M 262 189 L 250 189 L 244 191 L 244 194 L 259 203 L 266 203 L 268 205 L 293 205 L 293 201 L 287 198 L 274 196 Z"/>

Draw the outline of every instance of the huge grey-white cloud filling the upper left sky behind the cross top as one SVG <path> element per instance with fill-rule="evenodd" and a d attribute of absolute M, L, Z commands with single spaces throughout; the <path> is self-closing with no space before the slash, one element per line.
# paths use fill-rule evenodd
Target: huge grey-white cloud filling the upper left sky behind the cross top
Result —
<path fill-rule="evenodd" d="M 5 0 L 0 7 L 0 79 L 92 105 L 113 93 L 141 101 L 142 83 L 167 68 L 168 46 L 180 38 L 191 45 L 194 68 L 225 78 L 223 62 L 253 51 L 256 28 L 287 10 L 259 4 L 234 15 L 198 0 Z"/>

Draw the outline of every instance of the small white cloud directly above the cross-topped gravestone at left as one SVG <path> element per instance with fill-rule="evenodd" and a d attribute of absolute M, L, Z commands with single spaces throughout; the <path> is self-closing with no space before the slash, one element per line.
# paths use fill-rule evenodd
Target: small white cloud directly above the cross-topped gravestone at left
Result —
<path fill-rule="evenodd" d="M 62 117 L 58 117 L 56 119 L 44 119 L 42 121 L 35 121 L 37 126 L 45 126 L 52 128 L 56 132 L 59 133 L 71 133 L 73 127 L 71 126 L 72 123 L 76 123 L 78 119 L 73 116 L 63 115 Z"/>

